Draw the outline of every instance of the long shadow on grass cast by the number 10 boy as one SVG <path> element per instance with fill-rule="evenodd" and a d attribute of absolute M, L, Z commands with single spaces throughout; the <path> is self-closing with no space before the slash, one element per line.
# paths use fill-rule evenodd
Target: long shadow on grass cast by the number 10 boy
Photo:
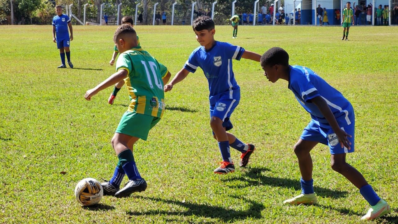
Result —
<path fill-rule="evenodd" d="M 145 200 L 154 200 L 158 202 L 164 202 L 167 204 L 177 204 L 184 208 L 187 208 L 186 211 L 170 211 L 164 210 L 160 211 L 158 209 L 148 210 L 146 212 L 132 212 L 128 211 L 128 215 L 140 216 L 140 215 L 175 215 L 175 216 L 202 216 L 206 218 L 217 218 L 222 220 L 223 222 L 234 222 L 236 220 L 244 220 L 248 217 L 252 219 L 261 218 L 261 211 L 265 208 L 263 204 L 255 202 L 253 200 L 244 199 L 247 204 L 250 204 L 249 208 L 245 211 L 236 211 L 230 208 L 221 208 L 217 206 L 213 206 L 210 204 L 197 204 L 193 202 L 181 202 L 178 200 L 169 200 L 162 198 L 154 198 L 154 197 L 145 197 L 145 196 L 137 196 L 143 198 Z M 178 220 L 176 220 L 178 221 Z"/>

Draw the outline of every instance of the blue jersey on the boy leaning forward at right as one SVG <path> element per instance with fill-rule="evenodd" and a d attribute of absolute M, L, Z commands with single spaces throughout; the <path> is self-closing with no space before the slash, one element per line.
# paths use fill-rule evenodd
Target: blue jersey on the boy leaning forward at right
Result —
<path fill-rule="evenodd" d="M 312 70 L 302 66 L 290 66 L 289 86 L 301 106 L 311 114 L 315 124 L 321 128 L 331 128 L 312 98 L 321 96 L 328 103 L 340 127 L 354 122 L 355 115 L 351 103 L 343 94 L 330 86 Z"/>

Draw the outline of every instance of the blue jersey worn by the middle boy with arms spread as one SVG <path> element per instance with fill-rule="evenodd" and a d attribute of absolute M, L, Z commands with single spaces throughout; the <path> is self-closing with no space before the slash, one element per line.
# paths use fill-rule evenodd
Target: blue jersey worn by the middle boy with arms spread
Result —
<path fill-rule="evenodd" d="M 240 87 L 232 71 L 232 59 L 240 60 L 244 51 L 242 47 L 216 41 L 211 49 L 200 46 L 189 56 L 184 69 L 195 73 L 197 67 L 201 67 L 209 82 L 210 104 L 225 96 L 240 100 Z"/>

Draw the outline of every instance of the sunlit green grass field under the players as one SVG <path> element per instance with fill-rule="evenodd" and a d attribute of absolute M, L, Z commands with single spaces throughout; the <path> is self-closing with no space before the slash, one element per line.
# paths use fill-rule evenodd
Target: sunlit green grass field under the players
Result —
<path fill-rule="evenodd" d="M 235 134 L 254 143 L 249 165 L 215 175 L 221 160 L 211 135 L 207 81 L 199 69 L 166 93 L 162 121 L 135 145 L 143 193 L 82 207 L 76 183 L 109 179 L 117 157 L 110 140 L 126 111 L 126 88 L 107 104 L 111 88 L 88 102 L 86 90 L 114 72 L 109 66 L 116 27 L 75 26 L 75 69 L 57 69 L 51 26 L 0 26 L 0 223 L 362 223 L 369 208 L 359 191 L 330 168 L 327 146 L 312 151 L 314 206 L 285 206 L 300 193 L 293 145 L 310 116 L 287 82 L 267 82 L 258 63 L 234 61 L 242 99 L 232 115 Z M 172 77 L 198 46 L 189 26 L 137 26 L 140 43 Z M 356 167 L 398 223 L 398 27 L 217 27 L 216 39 L 260 54 L 280 46 L 292 65 L 310 67 L 355 108 Z M 239 161 L 238 151 L 231 151 Z M 66 174 L 60 174 L 61 171 Z M 127 181 L 124 179 L 123 183 Z"/>

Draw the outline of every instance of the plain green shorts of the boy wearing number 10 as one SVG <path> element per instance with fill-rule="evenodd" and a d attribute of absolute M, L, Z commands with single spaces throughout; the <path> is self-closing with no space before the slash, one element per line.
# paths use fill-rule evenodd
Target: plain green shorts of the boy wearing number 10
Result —
<path fill-rule="evenodd" d="M 149 130 L 159 121 L 160 118 L 158 117 L 126 111 L 119 122 L 119 126 L 117 126 L 116 133 L 146 140 Z"/>

